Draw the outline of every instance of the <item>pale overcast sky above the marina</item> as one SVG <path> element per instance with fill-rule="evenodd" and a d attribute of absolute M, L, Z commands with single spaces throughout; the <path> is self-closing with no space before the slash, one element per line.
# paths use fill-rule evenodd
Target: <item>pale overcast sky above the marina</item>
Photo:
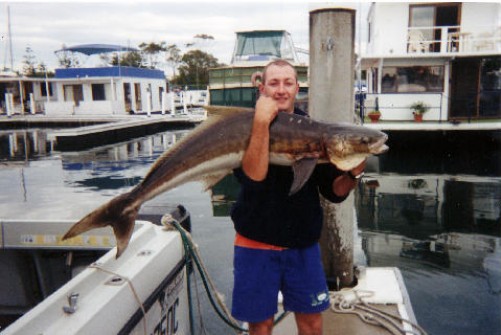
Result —
<path fill-rule="evenodd" d="M 363 4 L 365 3 L 365 5 Z M 58 66 L 55 50 L 62 45 L 87 43 L 120 44 L 137 47 L 141 42 L 184 45 L 197 34 L 208 34 L 213 41 L 200 49 L 229 63 L 235 32 L 284 29 L 296 46 L 308 48 L 309 11 L 329 5 L 351 5 L 359 9 L 357 20 L 365 22 L 367 2 L 299 1 L 108 1 L 108 2 L 21 2 L 0 1 L 0 67 L 10 67 L 7 47 L 7 5 L 10 8 L 14 68 L 21 70 L 26 47 L 31 47 L 36 62 L 53 69 Z M 357 23 L 357 27 L 361 27 Z M 84 65 L 99 63 L 97 56 L 83 58 Z"/>

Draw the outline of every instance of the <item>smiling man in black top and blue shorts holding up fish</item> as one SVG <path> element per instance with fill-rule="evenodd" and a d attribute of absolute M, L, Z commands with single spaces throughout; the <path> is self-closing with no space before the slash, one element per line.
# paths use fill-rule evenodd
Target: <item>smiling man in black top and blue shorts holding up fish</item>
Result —
<path fill-rule="evenodd" d="M 329 296 L 318 246 L 323 219 L 318 191 L 330 201 L 343 201 L 365 163 L 349 173 L 318 165 L 289 196 L 293 172 L 269 164 L 269 127 L 278 113 L 305 115 L 294 109 L 299 91 L 294 67 L 283 60 L 268 64 L 259 91 L 249 146 L 235 170 L 241 191 L 231 214 L 237 232 L 232 314 L 249 323 L 251 335 L 269 335 L 281 291 L 299 334 L 321 334 Z"/>

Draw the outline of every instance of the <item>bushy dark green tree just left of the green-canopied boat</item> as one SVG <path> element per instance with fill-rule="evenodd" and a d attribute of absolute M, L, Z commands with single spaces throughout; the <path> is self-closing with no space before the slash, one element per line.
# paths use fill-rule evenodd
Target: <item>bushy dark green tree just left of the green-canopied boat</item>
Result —
<path fill-rule="evenodd" d="M 217 58 L 201 50 L 192 50 L 181 58 L 179 75 L 172 80 L 177 85 L 196 85 L 197 88 L 209 83 L 209 68 L 221 66 Z"/>

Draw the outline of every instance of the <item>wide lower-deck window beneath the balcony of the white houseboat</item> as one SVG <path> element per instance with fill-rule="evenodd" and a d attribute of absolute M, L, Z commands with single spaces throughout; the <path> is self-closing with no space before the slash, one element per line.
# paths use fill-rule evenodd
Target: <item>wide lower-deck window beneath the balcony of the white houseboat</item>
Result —
<path fill-rule="evenodd" d="M 383 93 L 443 92 L 443 66 L 383 67 Z"/>

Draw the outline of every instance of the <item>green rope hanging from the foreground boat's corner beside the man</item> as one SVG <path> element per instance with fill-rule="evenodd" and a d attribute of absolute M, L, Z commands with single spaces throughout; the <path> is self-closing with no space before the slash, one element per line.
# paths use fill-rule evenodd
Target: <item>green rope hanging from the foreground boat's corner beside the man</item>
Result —
<path fill-rule="evenodd" d="M 202 283 L 207 292 L 207 297 L 209 298 L 209 302 L 211 303 L 212 307 L 214 308 L 219 318 L 234 330 L 238 332 L 247 333 L 248 329 L 241 327 L 238 321 L 233 318 L 228 307 L 221 298 L 221 295 L 218 293 L 218 290 L 216 289 L 216 286 L 212 278 L 208 274 L 205 264 L 202 261 L 199 248 L 193 242 L 191 235 L 183 227 L 181 227 L 179 222 L 176 219 L 174 219 L 170 214 L 164 215 L 162 217 L 161 222 L 162 225 L 166 227 L 166 229 L 168 230 L 177 229 L 179 231 L 181 239 L 183 240 L 183 245 L 185 248 L 186 255 L 189 255 L 195 262 L 200 277 L 202 278 Z M 191 299 L 190 299 L 190 305 L 191 305 Z M 279 315 L 278 318 L 274 321 L 274 324 L 277 324 L 278 322 L 282 321 L 287 314 L 288 314 L 287 312 L 283 312 L 281 315 Z"/>

